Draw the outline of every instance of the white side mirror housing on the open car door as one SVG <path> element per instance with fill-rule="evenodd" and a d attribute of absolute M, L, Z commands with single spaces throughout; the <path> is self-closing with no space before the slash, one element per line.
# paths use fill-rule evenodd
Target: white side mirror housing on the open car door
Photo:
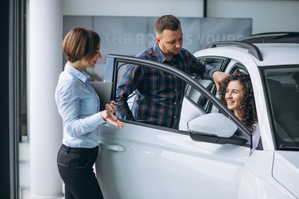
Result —
<path fill-rule="evenodd" d="M 237 125 L 221 113 L 209 113 L 188 122 L 189 131 L 230 138 L 237 130 Z"/>

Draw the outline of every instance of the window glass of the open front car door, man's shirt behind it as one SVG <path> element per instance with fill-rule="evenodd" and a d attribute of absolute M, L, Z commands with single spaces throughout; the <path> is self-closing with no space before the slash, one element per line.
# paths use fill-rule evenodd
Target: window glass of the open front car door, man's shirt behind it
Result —
<path fill-rule="evenodd" d="M 115 82 L 115 85 L 121 88 L 117 90 L 119 93 L 116 95 L 116 101 L 120 102 L 116 111 L 118 118 L 131 120 L 131 114 L 133 114 L 135 121 L 141 123 L 182 130 L 179 126 L 187 127 L 190 117 L 193 119 L 202 115 L 199 109 L 195 108 L 190 101 L 187 100 L 189 104 L 183 102 L 186 87 L 190 87 L 190 95 L 192 92 L 193 98 L 202 95 L 195 88 L 188 86 L 185 81 L 168 72 L 144 67 L 143 78 L 134 86 L 133 83 L 125 83 L 132 80 L 132 73 L 125 71 L 127 67 L 132 66 L 128 66 L 127 63 L 117 62 L 118 70 L 115 79 L 117 82 Z M 137 72 L 141 74 L 141 71 Z M 136 80 L 138 78 L 139 76 L 136 77 Z M 213 85 L 210 80 L 206 83 Z M 127 101 L 124 99 L 126 96 L 128 96 Z M 133 106 L 134 101 L 136 103 Z M 194 114 L 190 114 L 192 111 L 194 111 Z M 184 130 L 187 130 L 187 128 L 184 128 Z"/>

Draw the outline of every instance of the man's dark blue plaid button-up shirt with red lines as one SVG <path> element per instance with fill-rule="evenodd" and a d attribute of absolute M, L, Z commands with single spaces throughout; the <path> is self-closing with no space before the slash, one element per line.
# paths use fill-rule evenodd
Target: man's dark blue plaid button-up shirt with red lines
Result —
<path fill-rule="evenodd" d="M 136 57 L 158 61 L 203 79 L 212 80 L 213 72 L 220 71 L 216 67 L 200 62 L 183 48 L 168 61 L 157 43 Z M 116 117 L 179 129 L 185 87 L 184 81 L 167 72 L 130 64 L 117 84 L 116 102 L 119 104 Z M 131 112 L 127 98 L 134 90 L 136 96 Z"/>

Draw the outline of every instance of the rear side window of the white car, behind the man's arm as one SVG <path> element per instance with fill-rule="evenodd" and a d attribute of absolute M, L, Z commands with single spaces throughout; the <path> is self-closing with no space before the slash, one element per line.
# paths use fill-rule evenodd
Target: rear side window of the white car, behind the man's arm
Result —
<path fill-rule="evenodd" d="M 220 68 L 223 63 L 225 62 L 224 59 L 219 58 L 202 58 L 202 62 L 205 62 L 207 64 L 210 64 L 211 66 Z M 194 77 L 194 79 L 199 83 L 202 84 L 206 89 L 208 89 L 210 92 L 213 92 L 214 83 L 210 80 L 203 80 L 199 77 Z M 185 97 L 191 101 L 193 101 L 195 104 L 197 104 L 200 108 L 203 110 L 207 109 L 208 106 L 208 100 L 205 98 L 201 93 L 194 90 L 192 87 L 187 87 L 185 92 Z"/>

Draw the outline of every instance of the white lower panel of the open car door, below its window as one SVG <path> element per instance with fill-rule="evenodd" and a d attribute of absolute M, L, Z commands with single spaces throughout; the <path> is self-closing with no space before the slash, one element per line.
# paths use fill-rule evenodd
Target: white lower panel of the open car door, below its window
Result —
<path fill-rule="evenodd" d="M 237 197 L 248 147 L 124 122 L 122 129 L 100 127 L 99 140 L 126 148 L 99 148 L 96 171 L 105 198 Z"/>

